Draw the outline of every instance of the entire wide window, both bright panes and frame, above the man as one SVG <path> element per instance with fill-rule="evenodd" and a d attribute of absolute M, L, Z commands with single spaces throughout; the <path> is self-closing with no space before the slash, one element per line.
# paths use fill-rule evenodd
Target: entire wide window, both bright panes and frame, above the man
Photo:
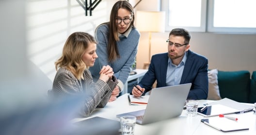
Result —
<path fill-rule="evenodd" d="M 166 31 L 256 33 L 256 0 L 161 0 Z M 208 14 L 207 14 L 208 13 Z M 206 17 L 208 16 L 208 17 Z"/>

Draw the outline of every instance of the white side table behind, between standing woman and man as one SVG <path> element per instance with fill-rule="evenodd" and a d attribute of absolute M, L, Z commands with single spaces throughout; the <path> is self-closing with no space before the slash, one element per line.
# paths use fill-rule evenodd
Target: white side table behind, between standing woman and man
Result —
<path fill-rule="evenodd" d="M 137 81 L 140 82 L 141 79 L 143 78 L 144 74 L 147 72 L 147 69 L 135 69 L 133 71 L 135 71 L 137 74 L 128 76 L 128 79 L 127 79 L 126 83 L 124 84 L 123 94 L 126 94 L 128 92 L 128 81 L 137 79 Z"/>

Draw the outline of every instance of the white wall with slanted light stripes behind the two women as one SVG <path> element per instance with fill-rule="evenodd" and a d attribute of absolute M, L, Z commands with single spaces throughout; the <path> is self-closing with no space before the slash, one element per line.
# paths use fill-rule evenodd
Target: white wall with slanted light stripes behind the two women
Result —
<path fill-rule="evenodd" d="M 54 62 L 62 54 L 64 42 L 75 31 L 94 35 L 97 25 L 109 20 L 113 3 L 102 0 L 85 16 L 76 0 L 27 0 L 28 57 L 53 81 Z"/>

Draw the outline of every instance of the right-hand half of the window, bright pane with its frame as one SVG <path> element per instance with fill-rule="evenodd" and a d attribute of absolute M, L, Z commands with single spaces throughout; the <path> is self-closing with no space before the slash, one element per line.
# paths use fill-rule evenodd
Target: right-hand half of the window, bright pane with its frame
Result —
<path fill-rule="evenodd" d="M 256 0 L 209 0 L 208 31 L 256 33 Z"/>

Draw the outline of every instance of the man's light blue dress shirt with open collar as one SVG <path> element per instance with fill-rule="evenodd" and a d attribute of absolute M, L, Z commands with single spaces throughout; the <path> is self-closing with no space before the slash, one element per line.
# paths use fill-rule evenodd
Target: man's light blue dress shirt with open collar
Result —
<path fill-rule="evenodd" d="M 185 62 L 187 60 L 187 55 L 188 55 L 188 52 L 185 53 L 181 62 L 177 66 L 172 63 L 172 60 L 170 58 L 168 59 L 168 68 L 167 68 L 167 74 L 166 74 L 167 86 L 180 84 Z"/>

